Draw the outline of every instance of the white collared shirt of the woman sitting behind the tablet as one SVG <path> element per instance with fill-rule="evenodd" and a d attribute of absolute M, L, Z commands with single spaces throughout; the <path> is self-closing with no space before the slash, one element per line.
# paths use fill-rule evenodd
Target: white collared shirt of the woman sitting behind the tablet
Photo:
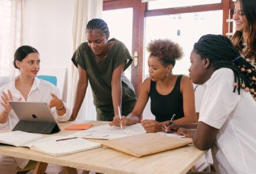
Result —
<path fill-rule="evenodd" d="M 19 77 L 16 77 L 18 79 Z M 25 98 L 21 95 L 21 93 L 16 89 L 15 87 L 15 80 L 11 81 L 8 84 L 5 84 L 0 88 L 0 93 L 2 95 L 2 92 L 5 92 L 8 94 L 7 90 L 10 90 L 12 93 L 12 97 L 15 100 L 18 100 L 18 98 L 22 98 L 22 101 L 25 101 Z M 28 98 L 26 101 L 43 101 L 47 102 L 51 100 L 51 93 L 54 93 L 58 98 L 60 98 L 60 91 L 59 89 L 54 86 L 53 84 L 49 83 L 48 81 L 38 79 L 35 77 L 34 83 L 31 87 L 31 90 L 29 91 Z M 0 101 L 2 101 L 2 98 L 0 98 Z M 67 108 L 67 105 L 64 103 L 66 108 L 66 114 L 59 116 L 56 114 L 55 107 L 52 108 L 52 112 L 54 112 L 55 120 L 59 122 L 68 121 L 71 117 L 71 114 L 69 112 L 69 109 Z M 0 104 L 0 111 L 2 111 L 3 106 Z M 18 123 L 19 119 L 16 116 L 14 110 L 11 110 L 9 112 L 8 120 L 4 124 L 0 124 L 0 131 L 3 130 L 9 130 L 15 127 L 15 125 Z"/>

